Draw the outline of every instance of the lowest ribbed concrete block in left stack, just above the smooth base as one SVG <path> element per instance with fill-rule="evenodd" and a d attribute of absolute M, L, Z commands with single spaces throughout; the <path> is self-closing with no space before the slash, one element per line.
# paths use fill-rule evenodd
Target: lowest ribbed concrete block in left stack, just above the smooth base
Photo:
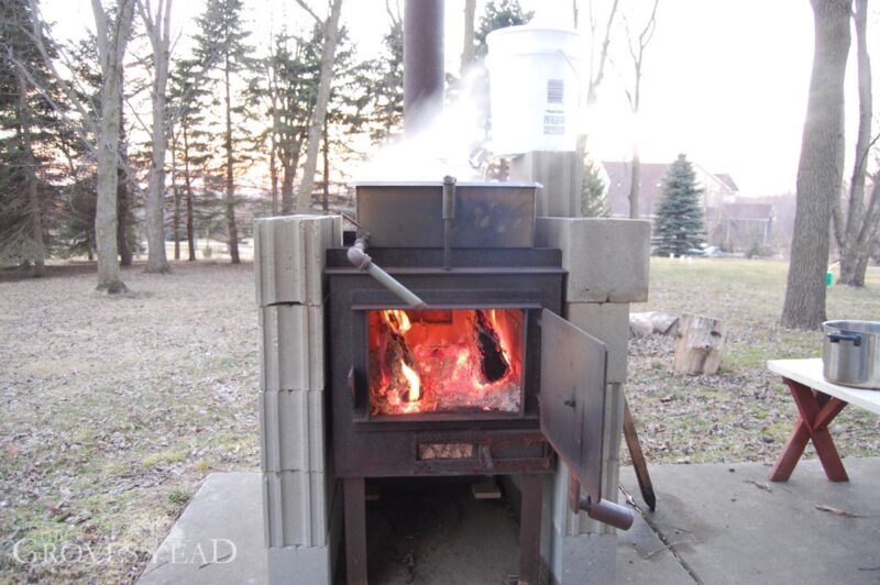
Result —
<path fill-rule="evenodd" d="M 324 547 L 336 482 L 326 472 L 263 474 L 267 547 Z"/>

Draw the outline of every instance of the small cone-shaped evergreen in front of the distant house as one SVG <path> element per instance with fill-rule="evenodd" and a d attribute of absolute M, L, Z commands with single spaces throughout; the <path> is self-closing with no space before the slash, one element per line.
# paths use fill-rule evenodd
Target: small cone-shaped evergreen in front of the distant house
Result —
<path fill-rule="evenodd" d="M 663 178 L 662 196 L 653 220 L 654 254 L 682 256 L 705 242 L 703 208 L 693 165 L 683 154 Z"/>

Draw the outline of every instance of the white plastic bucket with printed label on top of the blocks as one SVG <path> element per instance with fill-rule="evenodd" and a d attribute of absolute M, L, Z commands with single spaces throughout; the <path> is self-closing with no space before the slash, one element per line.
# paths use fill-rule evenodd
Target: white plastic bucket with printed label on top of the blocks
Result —
<path fill-rule="evenodd" d="M 492 150 L 574 151 L 581 123 L 581 35 L 508 26 L 486 37 Z"/>

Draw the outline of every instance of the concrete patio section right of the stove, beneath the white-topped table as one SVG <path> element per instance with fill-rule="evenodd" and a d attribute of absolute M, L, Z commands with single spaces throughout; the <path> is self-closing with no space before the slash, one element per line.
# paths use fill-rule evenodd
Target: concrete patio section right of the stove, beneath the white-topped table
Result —
<path fill-rule="evenodd" d="M 701 583 L 876 584 L 880 457 L 844 464 L 848 483 L 828 482 L 816 460 L 780 484 L 767 483 L 770 467 L 760 463 L 652 466 L 657 511 L 646 520 Z M 631 468 L 620 483 L 645 506 Z"/>

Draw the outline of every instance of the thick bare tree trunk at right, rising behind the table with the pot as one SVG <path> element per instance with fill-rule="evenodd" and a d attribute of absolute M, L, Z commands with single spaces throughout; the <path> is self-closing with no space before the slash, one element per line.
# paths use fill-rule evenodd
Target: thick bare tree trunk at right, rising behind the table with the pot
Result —
<path fill-rule="evenodd" d="M 782 324 L 818 329 L 825 320 L 825 272 L 832 198 L 844 173 L 844 74 L 853 0 L 811 0 L 815 21 L 813 73 L 806 108 L 798 208 Z"/>

